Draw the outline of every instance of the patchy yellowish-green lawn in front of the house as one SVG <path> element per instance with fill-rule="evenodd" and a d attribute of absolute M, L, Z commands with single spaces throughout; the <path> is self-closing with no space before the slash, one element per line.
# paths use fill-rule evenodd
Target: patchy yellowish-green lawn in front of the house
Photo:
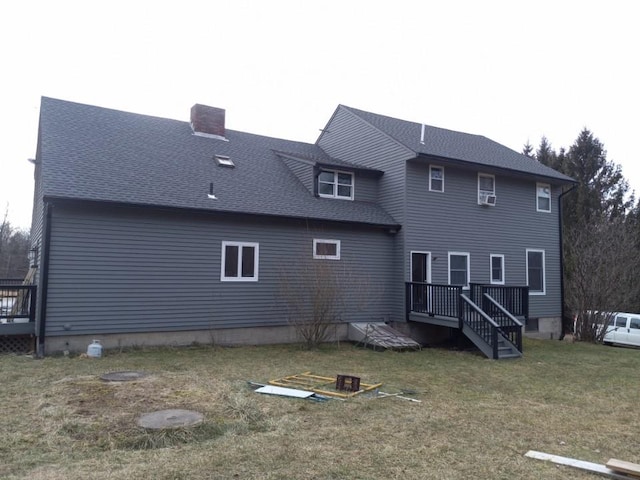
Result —
<path fill-rule="evenodd" d="M 468 351 L 374 352 L 351 344 L 134 349 L 100 359 L 0 356 L 0 478 L 597 478 L 528 450 L 640 463 L 640 351 L 525 340 L 519 360 Z M 106 372 L 143 371 L 126 383 Z M 247 381 L 304 371 L 382 382 L 410 402 L 313 402 Z M 152 432 L 141 414 L 205 415 Z"/>

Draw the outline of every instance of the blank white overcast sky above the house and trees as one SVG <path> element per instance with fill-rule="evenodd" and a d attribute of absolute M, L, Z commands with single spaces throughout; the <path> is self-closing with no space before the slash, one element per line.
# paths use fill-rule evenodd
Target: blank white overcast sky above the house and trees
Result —
<path fill-rule="evenodd" d="M 0 207 L 30 226 L 41 96 L 313 143 L 338 104 L 521 151 L 589 128 L 640 192 L 635 2 L 3 2 Z"/>

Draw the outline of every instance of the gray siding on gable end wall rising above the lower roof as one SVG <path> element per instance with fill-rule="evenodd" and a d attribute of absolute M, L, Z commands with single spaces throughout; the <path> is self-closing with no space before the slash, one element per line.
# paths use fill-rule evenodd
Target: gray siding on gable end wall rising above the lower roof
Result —
<path fill-rule="evenodd" d="M 318 146 L 332 157 L 382 170 L 379 204 L 403 222 L 404 163 L 415 156 L 413 152 L 343 108 L 330 120 Z"/>

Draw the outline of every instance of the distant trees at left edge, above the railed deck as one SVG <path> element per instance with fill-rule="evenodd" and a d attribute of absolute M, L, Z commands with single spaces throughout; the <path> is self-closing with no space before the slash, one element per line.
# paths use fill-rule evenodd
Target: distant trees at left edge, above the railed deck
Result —
<path fill-rule="evenodd" d="M 24 279 L 29 270 L 29 232 L 11 225 L 7 207 L 0 223 L 0 279 Z"/>

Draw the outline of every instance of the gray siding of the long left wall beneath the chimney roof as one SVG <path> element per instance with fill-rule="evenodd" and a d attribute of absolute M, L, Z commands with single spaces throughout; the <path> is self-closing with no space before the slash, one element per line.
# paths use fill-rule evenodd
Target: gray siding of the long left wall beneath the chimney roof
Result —
<path fill-rule="evenodd" d="M 47 335 L 284 325 L 281 278 L 311 258 L 313 238 L 341 241 L 336 265 L 358 285 L 343 321 L 402 316 L 387 284 L 396 239 L 382 229 L 57 206 Z M 259 243 L 258 282 L 220 280 L 223 241 Z M 372 293 L 364 308 L 362 284 Z"/>

